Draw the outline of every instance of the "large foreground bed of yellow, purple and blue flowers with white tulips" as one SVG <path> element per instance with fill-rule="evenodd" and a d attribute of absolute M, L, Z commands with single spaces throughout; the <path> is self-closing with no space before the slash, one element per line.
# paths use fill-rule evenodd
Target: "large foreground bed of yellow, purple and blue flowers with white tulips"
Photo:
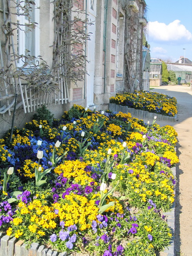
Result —
<path fill-rule="evenodd" d="M 77 105 L 15 128 L 0 140 L 1 232 L 70 255 L 156 255 L 172 239 L 176 136 Z"/>

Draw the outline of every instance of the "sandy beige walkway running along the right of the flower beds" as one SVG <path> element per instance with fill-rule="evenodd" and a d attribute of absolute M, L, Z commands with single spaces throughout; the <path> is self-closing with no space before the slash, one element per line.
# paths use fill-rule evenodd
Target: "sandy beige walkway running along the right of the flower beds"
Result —
<path fill-rule="evenodd" d="M 158 93 L 177 99 L 177 122 L 157 121 L 172 125 L 178 134 L 175 196 L 175 256 L 192 256 L 192 89 L 187 86 L 161 86 Z"/>

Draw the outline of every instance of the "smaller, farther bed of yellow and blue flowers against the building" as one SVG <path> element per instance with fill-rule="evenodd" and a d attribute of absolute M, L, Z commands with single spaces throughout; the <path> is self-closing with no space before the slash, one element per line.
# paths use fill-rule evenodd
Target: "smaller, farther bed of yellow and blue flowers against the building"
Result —
<path fill-rule="evenodd" d="M 161 93 L 135 91 L 135 93 L 116 94 L 110 98 L 110 103 L 140 109 L 164 116 L 177 114 L 177 100 Z"/>

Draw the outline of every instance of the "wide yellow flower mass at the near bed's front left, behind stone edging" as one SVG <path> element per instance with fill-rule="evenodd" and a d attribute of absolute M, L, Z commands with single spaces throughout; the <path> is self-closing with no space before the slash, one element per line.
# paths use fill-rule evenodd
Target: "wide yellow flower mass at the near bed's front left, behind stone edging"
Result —
<path fill-rule="evenodd" d="M 47 205 L 47 201 L 40 201 L 38 199 L 33 200 L 29 205 L 19 203 L 17 212 L 20 211 L 20 218 L 13 218 L 14 226 L 19 226 L 15 237 L 21 236 L 24 230 L 22 223 L 26 220 L 29 225 L 27 228 L 32 233 L 37 233 L 39 236 L 44 236 L 47 230 L 54 229 L 58 223 L 62 220 L 65 222 L 65 226 L 76 224 L 80 230 L 86 230 L 91 227 L 91 223 L 96 219 L 99 208 L 96 206 L 93 199 L 88 200 L 81 195 L 66 195 L 64 200 L 52 204 L 50 207 Z M 57 210 L 58 214 L 55 213 Z M 7 230 L 7 234 L 11 234 L 12 229 Z"/>

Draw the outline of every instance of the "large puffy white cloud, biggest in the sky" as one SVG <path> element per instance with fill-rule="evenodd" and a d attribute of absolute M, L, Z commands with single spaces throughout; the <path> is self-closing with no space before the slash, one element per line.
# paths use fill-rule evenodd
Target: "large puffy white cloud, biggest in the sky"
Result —
<path fill-rule="evenodd" d="M 148 32 L 151 41 L 192 41 L 192 33 L 180 24 L 180 20 L 174 20 L 168 25 L 149 21 Z"/>

